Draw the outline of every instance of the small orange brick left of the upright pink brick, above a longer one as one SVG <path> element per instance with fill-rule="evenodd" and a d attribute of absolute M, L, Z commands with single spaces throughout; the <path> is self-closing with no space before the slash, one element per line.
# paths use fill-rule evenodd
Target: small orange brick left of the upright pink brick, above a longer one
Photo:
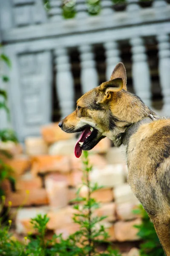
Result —
<path fill-rule="evenodd" d="M 32 190 L 42 187 L 42 180 L 40 177 L 34 177 L 30 172 L 20 176 L 15 183 L 16 190 Z"/>

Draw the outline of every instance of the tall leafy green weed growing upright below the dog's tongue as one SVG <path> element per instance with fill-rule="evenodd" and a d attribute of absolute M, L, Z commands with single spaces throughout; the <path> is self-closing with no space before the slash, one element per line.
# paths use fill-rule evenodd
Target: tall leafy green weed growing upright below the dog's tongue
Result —
<path fill-rule="evenodd" d="M 97 183 L 92 184 L 89 179 L 89 173 L 92 170 L 92 166 L 89 164 L 88 152 L 84 151 L 84 176 L 82 180 L 82 186 L 86 186 L 88 193 L 87 197 L 81 197 L 80 191 L 81 187 L 77 191 L 77 198 L 75 202 L 81 204 L 76 204 L 74 209 L 77 210 L 77 213 L 74 214 L 73 220 L 79 225 L 79 230 L 69 237 L 71 241 L 76 245 L 76 248 L 81 243 L 81 248 L 79 250 L 79 256 L 94 256 L 94 255 L 114 255 L 118 256 L 117 250 L 112 250 L 110 247 L 104 253 L 98 253 L 96 249 L 96 244 L 103 243 L 109 237 L 106 232 L 103 221 L 107 216 L 98 217 L 95 216 L 95 210 L 100 207 L 100 204 L 92 198 L 92 193 L 98 189 L 101 189 L 101 186 L 98 186 Z"/>

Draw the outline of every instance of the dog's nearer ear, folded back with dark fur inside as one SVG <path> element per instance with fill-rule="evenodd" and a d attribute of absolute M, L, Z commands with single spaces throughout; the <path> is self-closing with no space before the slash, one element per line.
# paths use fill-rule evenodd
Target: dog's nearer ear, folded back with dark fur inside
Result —
<path fill-rule="evenodd" d="M 112 96 L 112 92 L 118 92 L 122 90 L 123 85 L 124 84 L 122 78 L 116 78 L 102 83 L 99 87 L 99 90 L 103 91 L 104 97 L 97 103 L 104 103 L 105 101 L 108 101 Z"/>

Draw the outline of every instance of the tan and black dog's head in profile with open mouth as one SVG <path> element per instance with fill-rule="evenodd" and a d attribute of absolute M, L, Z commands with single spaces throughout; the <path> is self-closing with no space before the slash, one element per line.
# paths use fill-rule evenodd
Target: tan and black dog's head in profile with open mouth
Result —
<path fill-rule="evenodd" d="M 75 145 L 76 157 L 81 156 L 82 149 L 92 149 L 106 136 L 116 146 L 121 145 L 121 135 L 135 121 L 132 105 L 138 105 L 137 96 L 127 92 L 126 81 L 124 64 L 118 63 L 110 80 L 81 96 L 76 110 L 59 123 L 67 133 L 82 131 Z"/>

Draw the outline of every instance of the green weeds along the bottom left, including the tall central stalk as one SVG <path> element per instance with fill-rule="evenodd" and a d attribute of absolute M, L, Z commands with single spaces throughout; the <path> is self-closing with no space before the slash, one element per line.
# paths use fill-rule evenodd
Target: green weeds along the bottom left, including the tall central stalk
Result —
<path fill-rule="evenodd" d="M 76 213 L 73 221 L 79 225 L 79 230 L 70 235 L 68 239 L 63 239 L 62 235 L 54 235 L 52 239 L 47 240 L 46 224 L 49 221 L 47 215 L 37 215 L 31 220 L 35 236 L 31 234 L 25 237 L 25 241 L 20 242 L 14 239 L 9 233 L 12 221 L 9 220 L 7 225 L 2 225 L 4 218 L 0 218 L 0 255 L 4 256 L 121 256 L 117 250 L 112 250 L 109 247 L 106 251 L 99 253 L 97 248 L 98 243 L 103 243 L 108 237 L 104 226 L 96 224 L 106 218 L 96 217 L 95 209 L 99 204 L 92 198 L 92 193 L 100 187 L 97 184 L 91 184 L 89 180 L 89 172 L 92 166 L 89 164 L 88 153 L 84 151 L 84 179 L 83 186 L 88 188 L 88 196 L 81 197 L 80 189 L 77 192 L 78 201 L 81 204 L 75 205 Z M 2 197 L 1 209 L 5 202 L 5 196 Z M 9 207 L 10 209 L 10 207 Z M 0 210 L 1 211 L 1 210 Z"/>

